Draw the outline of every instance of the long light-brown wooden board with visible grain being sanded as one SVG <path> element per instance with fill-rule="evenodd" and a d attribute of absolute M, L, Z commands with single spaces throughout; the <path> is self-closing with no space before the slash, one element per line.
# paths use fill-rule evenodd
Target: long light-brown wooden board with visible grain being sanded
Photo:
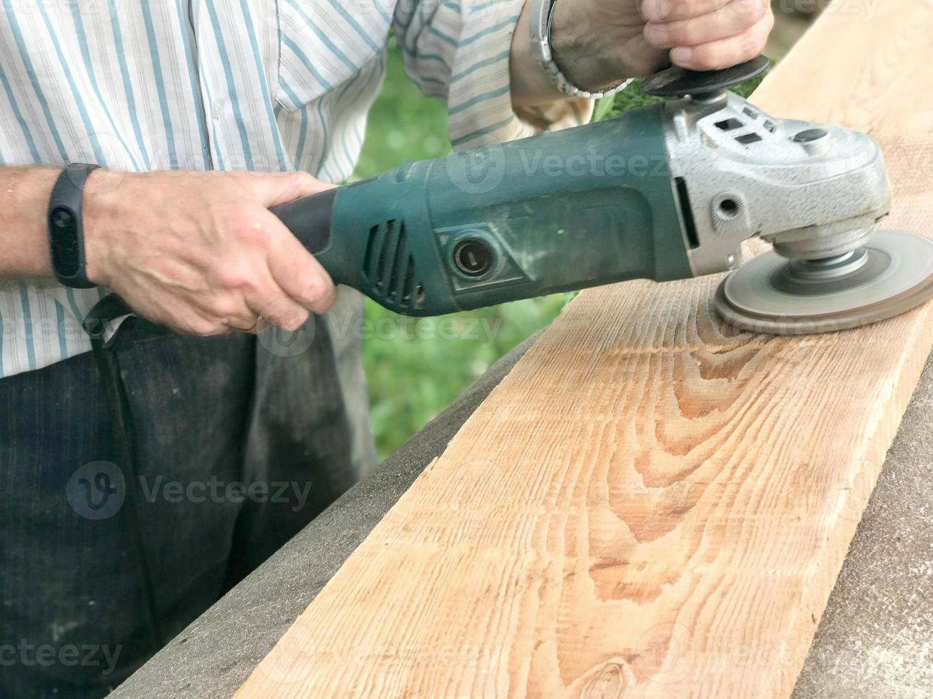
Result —
<path fill-rule="evenodd" d="M 873 133 L 919 232 L 930 36 L 838 0 L 753 100 Z M 933 323 L 738 333 L 717 281 L 579 295 L 238 696 L 787 696 Z"/>

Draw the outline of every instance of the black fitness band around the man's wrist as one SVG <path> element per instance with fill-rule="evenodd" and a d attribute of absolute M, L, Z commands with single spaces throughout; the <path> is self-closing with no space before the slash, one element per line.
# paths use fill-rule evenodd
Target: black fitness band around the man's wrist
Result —
<path fill-rule="evenodd" d="M 84 267 L 84 228 L 81 225 L 81 199 L 84 183 L 97 165 L 69 163 L 65 166 L 49 199 L 49 253 L 52 271 L 64 286 L 90 289 Z"/>

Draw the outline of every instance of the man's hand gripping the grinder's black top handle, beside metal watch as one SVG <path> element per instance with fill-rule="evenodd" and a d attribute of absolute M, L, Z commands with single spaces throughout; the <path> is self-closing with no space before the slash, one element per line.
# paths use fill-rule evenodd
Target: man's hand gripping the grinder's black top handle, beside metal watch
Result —
<path fill-rule="evenodd" d="M 557 0 L 551 39 L 564 75 L 595 91 L 671 62 L 703 71 L 748 61 L 773 23 L 770 0 Z"/>

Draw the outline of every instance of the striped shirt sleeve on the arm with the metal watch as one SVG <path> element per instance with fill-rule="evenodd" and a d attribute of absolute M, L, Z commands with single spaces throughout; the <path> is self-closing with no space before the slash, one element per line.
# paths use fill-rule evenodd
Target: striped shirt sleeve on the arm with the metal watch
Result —
<path fill-rule="evenodd" d="M 503 143 L 586 123 L 592 100 L 515 110 L 508 54 L 524 0 L 401 0 L 393 30 L 405 69 L 425 95 L 448 105 L 453 147 Z"/>

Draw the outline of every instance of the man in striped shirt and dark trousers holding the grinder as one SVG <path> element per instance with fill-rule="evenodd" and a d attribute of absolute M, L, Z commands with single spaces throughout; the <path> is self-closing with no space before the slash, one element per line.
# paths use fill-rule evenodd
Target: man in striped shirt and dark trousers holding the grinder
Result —
<path fill-rule="evenodd" d="M 668 62 L 750 59 L 773 21 L 550 12 L 544 64 L 524 0 L 6 0 L 0 695 L 103 695 L 371 465 L 360 297 L 268 208 L 353 171 L 390 31 L 468 148 L 581 123 L 581 95 Z M 91 352 L 111 291 L 135 317 Z"/>

